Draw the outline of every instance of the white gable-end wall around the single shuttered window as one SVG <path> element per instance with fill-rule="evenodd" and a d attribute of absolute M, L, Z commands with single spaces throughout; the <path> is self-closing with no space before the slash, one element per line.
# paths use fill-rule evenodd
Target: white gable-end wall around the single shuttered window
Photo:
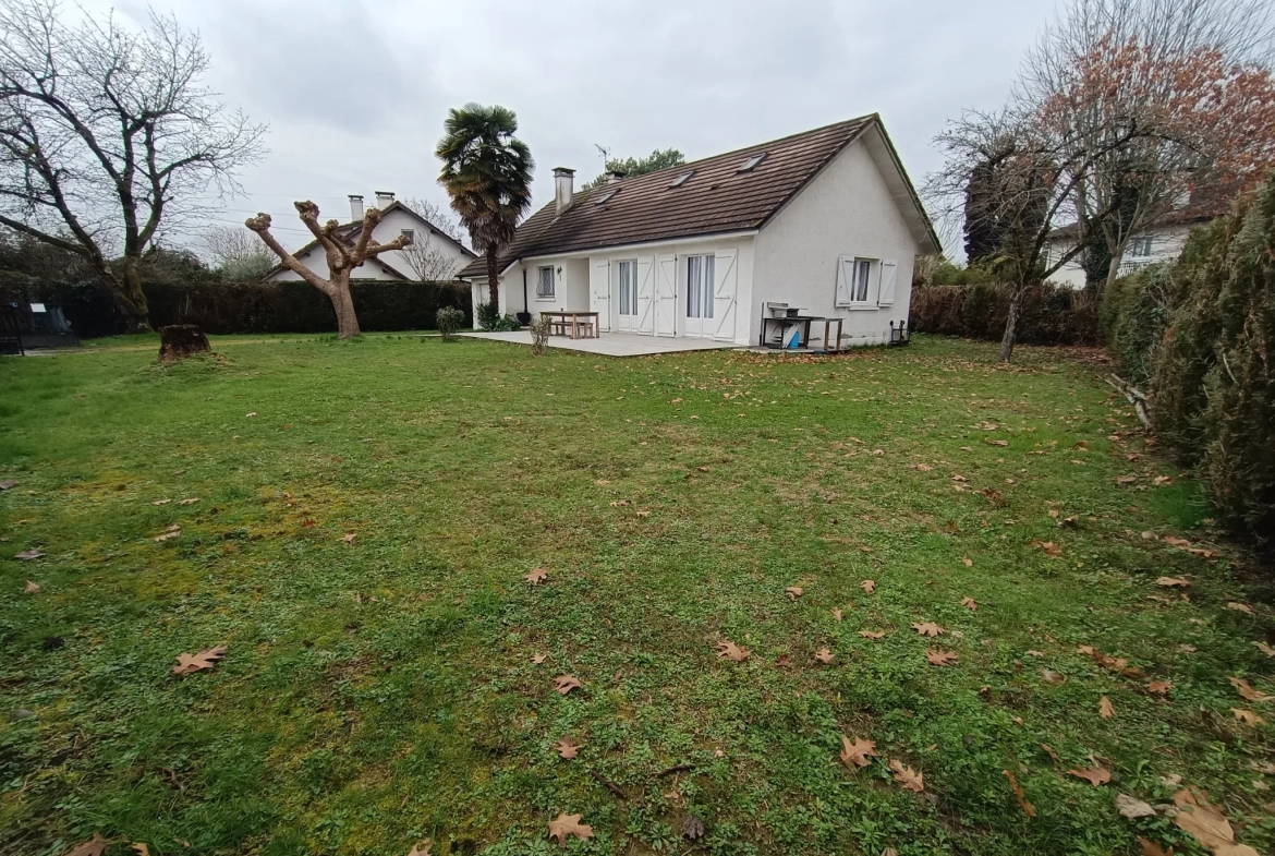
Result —
<path fill-rule="evenodd" d="M 833 158 L 756 237 L 751 341 L 760 336 L 765 302 L 787 302 L 808 314 L 843 319 L 845 344 L 889 341 L 890 321 L 908 320 L 912 269 L 922 250 L 866 138 Z M 843 255 L 895 262 L 895 297 L 890 306 L 847 309 L 836 304 L 836 268 Z M 880 288 L 880 268 L 876 288 Z"/>

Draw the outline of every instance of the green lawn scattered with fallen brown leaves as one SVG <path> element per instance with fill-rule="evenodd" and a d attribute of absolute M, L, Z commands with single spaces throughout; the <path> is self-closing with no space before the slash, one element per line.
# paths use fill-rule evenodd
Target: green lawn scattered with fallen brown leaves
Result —
<path fill-rule="evenodd" d="M 1275 851 L 1269 596 L 1093 353 L 214 347 L 0 360 L 0 853 Z"/>

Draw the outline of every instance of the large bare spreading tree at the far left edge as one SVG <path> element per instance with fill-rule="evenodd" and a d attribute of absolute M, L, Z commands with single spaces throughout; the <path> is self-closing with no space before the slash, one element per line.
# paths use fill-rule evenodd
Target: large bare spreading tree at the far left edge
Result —
<path fill-rule="evenodd" d="M 208 54 L 173 18 L 140 32 L 78 18 L 56 0 L 0 5 L 0 223 L 83 258 L 144 330 L 143 255 L 200 198 L 237 190 L 265 128 L 200 84 Z"/>

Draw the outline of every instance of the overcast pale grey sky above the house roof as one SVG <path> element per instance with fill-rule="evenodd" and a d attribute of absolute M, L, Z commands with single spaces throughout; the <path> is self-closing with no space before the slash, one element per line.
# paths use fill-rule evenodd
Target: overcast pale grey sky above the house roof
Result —
<path fill-rule="evenodd" d="M 147 3 L 89 0 L 144 19 Z M 551 171 L 601 171 L 676 147 L 688 159 L 880 112 L 915 184 L 963 107 L 1007 94 L 1052 0 L 154 0 L 204 37 L 209 84 L 269 122 L 269 156 L 221 219 L 265 210 L 303 242 L 291 203 L 348 217 L 346 194 L 440 204 L 433 147 L 449 107 L 518 112 Z M 293 230 L 293 231 L 284 231 Z"/>

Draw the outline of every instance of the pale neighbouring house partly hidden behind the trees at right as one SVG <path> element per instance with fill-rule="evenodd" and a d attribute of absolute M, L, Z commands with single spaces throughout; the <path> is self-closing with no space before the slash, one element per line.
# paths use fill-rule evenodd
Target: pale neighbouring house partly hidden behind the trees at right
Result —
<path fill-rule="evenodd" d="M 1229 195 L 1220 189 L 1209 189 L 1204 193 L 1195 193 L 1184 196 L 1181 204 L 1167 217 L 1155 223 L 1145 232 L 1140 232 L 1128 240 L 1125 249 L 1125 258 L 1119 263 L 1119 276 L 1133 273 L 1139 268 L 1158 262 L 1176 262 L 1182 254 L 1182 247 L 1187 242 L 1191 230 L 1201 223 L 1207 223 L 1227 209 Z M 1046 242 L 1046 265 L 1053 265 L 1076 245 L 1076 225 L 1061 226 L 1052 232 Z M 1057 273 L 1049 277 L 1051 282 L 1071 286 L 1072 288 L 1085 287 L 1085 269 L 1081 265 L 1084 254 L 1077 254 Z"/>

